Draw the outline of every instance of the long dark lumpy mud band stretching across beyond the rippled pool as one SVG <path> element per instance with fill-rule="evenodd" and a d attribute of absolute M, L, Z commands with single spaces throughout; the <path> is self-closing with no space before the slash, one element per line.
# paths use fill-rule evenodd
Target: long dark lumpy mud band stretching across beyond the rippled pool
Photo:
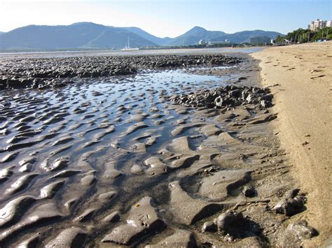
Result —
<path fill-rule="evenodd" d="M 226 66 L 240 59 L 216 55 L 149 55 L 1 59 L 0 89 L 64 87 L 73 78 L 129 75 L 140 69 Z"/>

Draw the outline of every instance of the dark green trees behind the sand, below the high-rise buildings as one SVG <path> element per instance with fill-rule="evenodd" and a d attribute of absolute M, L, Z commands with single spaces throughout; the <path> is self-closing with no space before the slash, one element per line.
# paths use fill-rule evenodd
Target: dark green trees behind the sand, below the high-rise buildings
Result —
<path fill-rule="evenodd" d="M 316 41 L 324 41 L 332 39 L 332 27 L 324 27 L 317 31 L 311 31 L 310 29 L 296 29 L 289 32 L 286 36 L 277 36 L 275 42 L 282 44 L 284 39 L 291 41 L 291 43 L 308 43 Z"/>

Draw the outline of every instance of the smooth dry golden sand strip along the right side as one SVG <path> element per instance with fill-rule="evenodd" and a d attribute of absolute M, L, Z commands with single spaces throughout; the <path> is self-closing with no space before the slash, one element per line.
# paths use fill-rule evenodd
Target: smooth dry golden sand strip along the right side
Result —
<path fill-rule="evenodd" d="M 261 60 L 263 86 L 279 84 L 271 88 L 278 113 L 275 132 L 293 177 L 307 192 L 307 210 L 296 218 L 320 233 L 305 245 L 320 245 L 332 234 L 332 43 L 268 48 L 252 56 Z"/>

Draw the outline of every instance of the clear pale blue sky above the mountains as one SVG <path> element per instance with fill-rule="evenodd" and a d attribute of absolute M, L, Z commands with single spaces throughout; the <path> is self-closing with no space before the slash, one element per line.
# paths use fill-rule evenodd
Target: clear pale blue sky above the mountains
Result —
<path fill-rule="evenodd" d="M 29 24 L 95 22 L 175 37 L 207 30 L 263 29 L 286 34 L 317 18 L 331 20 L 332 0 L 0 0 L 0 31 Z"/>

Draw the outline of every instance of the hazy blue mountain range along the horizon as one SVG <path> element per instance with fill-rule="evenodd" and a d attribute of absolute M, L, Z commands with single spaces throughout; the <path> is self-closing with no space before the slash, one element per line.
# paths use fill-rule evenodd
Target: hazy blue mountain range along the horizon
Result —
<path fill-rule="evenodd" d="M 160 38 L 148 34 L 138 27 L 111 27 L 92 22 L 77 22 L 68 26 L 29 25 L 8 32 L 0 32 L 0 50 L 25 49 L 66 49 L 66 48 L 123 48 L 130 40 L 130 47 L 158 47 L 195 45 L 205 41 L 224 41 L 233 43 L 248 42 L 252 36 L 282 35 L 275 31 L 240 31 L 226 34 L 223 31 L 208 31 L 202 27 L 193 27 L 185 34 L 175 38 Z"/>

